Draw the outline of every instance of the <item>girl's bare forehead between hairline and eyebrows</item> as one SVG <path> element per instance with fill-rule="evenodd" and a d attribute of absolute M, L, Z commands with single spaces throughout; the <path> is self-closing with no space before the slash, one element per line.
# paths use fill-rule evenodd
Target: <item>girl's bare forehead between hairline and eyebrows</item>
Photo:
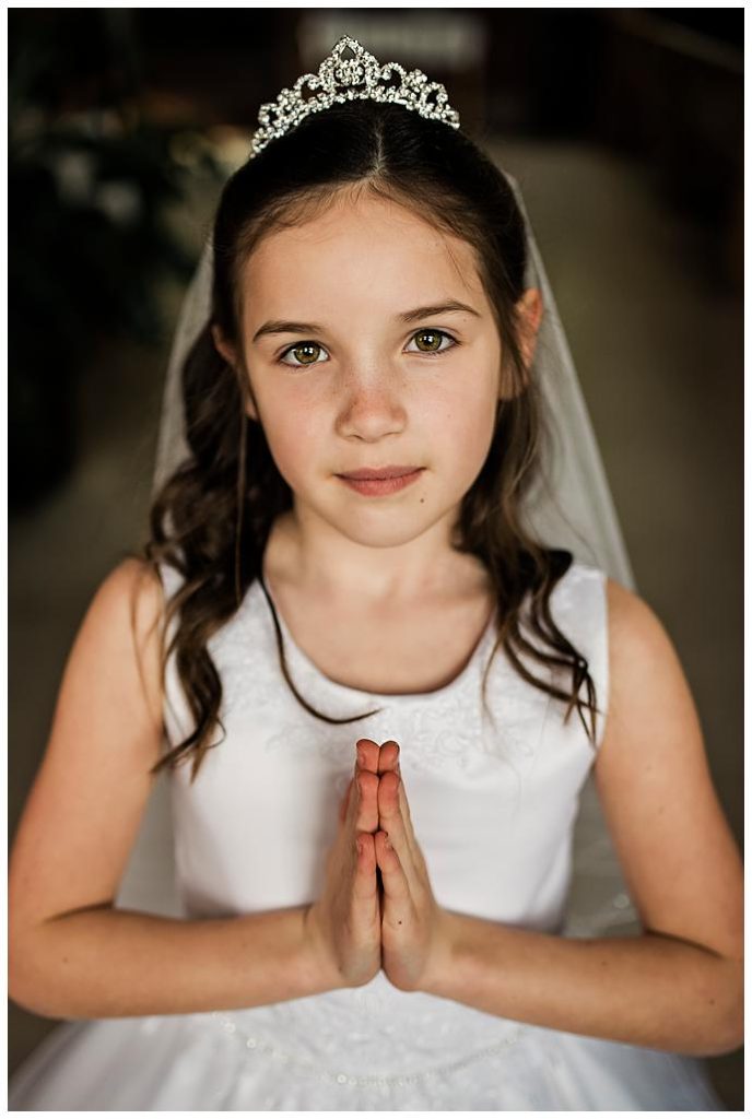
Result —
<path fill-rule="evenodd" d="M 295 309 L 404 310 L 439 297 L 485 303 L 472 247 L 387 199 L 338 199 L 321 215 L 267 234 L 243 270 L 253 318 Z"/>

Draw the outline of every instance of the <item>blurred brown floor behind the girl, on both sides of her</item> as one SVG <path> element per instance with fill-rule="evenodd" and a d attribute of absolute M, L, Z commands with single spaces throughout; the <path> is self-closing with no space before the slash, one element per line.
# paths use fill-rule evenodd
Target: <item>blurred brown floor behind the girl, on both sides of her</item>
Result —
<path fill-rule="evenodd" d="M 637 587 L 678 649 L 741 846 L 741 297 L 716 290 L 707 244 L 665 208 L 645 168 L 584 145 L 515 140 L 491 150 L 524 189 Z M 216 195 L 199 181 L 175 215 L 197 247 Z M 164 293 L 172 314 L 178 298 Z M 169 342 L 102 354 L 78 391 L 75 473 L 11 525 L 11 836 L 83 613 L 101 580 L 144 538 Z M 53 1025 L 10 1005 L 10 1070 Z M 742 1109 L 743 1051 L 708 1064 L 728 1110 Z"/>

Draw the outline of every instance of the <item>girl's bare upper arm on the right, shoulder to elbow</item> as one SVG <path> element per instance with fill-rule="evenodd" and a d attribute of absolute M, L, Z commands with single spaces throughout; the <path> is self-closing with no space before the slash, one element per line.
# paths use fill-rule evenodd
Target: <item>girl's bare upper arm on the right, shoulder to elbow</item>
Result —
<path fill-rule="evenodd" d="M 609 702 L 594 778 L 646 929 L 739 959 L 742 864 L 666 627 L 609 579 Z"/>

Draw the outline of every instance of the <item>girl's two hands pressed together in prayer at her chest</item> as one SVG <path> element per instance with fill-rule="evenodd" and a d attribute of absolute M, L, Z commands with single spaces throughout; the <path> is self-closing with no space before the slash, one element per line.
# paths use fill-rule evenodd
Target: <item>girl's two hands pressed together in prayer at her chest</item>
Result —
<path fill-rule="evenodd" d="M 413 831 L 400 746 L 369 739 L 356 746 L 325 887 L 308 910 L 307 929 L 332 986 L 360 986 L 383 968 L 395 987 L 417 990 L 443 965 L 445 914 Z"/>

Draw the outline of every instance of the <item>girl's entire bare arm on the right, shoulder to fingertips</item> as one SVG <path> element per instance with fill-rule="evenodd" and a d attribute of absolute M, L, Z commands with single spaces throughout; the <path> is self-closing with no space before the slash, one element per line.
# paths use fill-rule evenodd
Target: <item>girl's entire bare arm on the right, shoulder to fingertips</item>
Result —
<path fill-rule="evenodd" d="M 520 1022 L 726 1053 L 743 1041 L 741 857 L 668 636 L 642 600 L 611 581 L 609 611 L 611 698 L 595 782 L 645 934 L 574 940 L 445 910 L 426 918 L 427 877 L 395 796 L 404 799 L 404 789 L 382 779 L 380 827 L 396 849 L 377 837 L 383 940 L 394 942 L 385 970 L 405 989 Z"/>

